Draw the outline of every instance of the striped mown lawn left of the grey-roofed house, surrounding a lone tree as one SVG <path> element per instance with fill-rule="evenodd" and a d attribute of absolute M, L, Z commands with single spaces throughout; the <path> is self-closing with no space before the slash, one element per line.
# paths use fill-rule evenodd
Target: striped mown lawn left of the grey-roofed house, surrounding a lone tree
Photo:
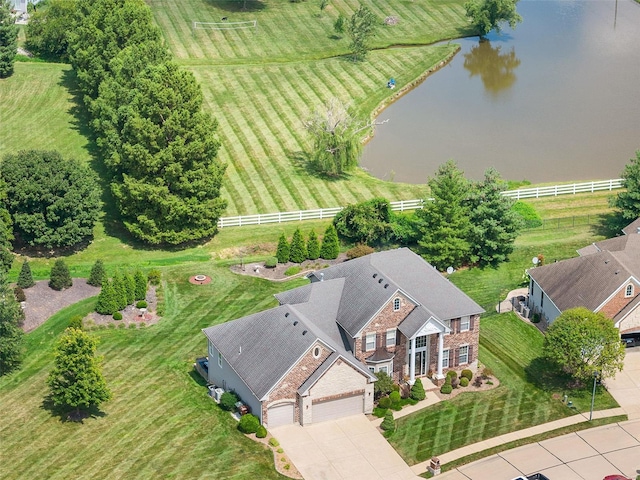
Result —
<path fill-rule="evenodd" d="M 167 270 L 166 316 L 158 325 L 94 331 L 114 398 L 83 424 L 61 421 L 43 398 L 55 339 L 95 300 L 27 336 L 24 367 L 0 378 L 0 478 L 281 478 L 272 454 L 235 429 L 191 365 L 206 354 L 200 329 L 274 306 L 272 294 L 296 283 L 271 284 L 211 264 L 198 272 L 212 283 L 189 284 L 191 266 Z"/>

